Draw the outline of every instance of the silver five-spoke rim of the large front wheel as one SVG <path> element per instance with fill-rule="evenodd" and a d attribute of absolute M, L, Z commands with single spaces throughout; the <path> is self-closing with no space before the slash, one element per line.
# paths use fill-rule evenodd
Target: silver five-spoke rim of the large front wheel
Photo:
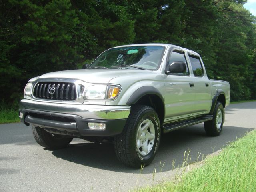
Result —
<path fill-rule="evenodd" d="M 141 155 L 150 153 L 155 142 L 155 126 L 149 119 L 142 121 L 136 135 L 136 148 Z"/>

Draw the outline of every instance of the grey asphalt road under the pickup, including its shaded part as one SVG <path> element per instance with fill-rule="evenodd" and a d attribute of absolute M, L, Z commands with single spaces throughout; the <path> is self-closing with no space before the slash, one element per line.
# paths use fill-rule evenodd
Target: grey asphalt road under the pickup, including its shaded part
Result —
<path fill-rule="evenodd" d="M 194 162 L 198 154 L 212 154 L 256 129 L 255 115 L 256 102 L 232 104 L 226 108 L 226 122 L 218 137 L 206 136 L 203 124 L 164 135 L 156 158 L 142 172 L 118 162 L 112 144 L 74 139 L 68 148 L 51 151 L 36 144 L 31 127 L 1 124 L 0 192 L 107 192 L 157 184 L 174 177 L 172 162 L 181 166 L 188 149 Z"/>

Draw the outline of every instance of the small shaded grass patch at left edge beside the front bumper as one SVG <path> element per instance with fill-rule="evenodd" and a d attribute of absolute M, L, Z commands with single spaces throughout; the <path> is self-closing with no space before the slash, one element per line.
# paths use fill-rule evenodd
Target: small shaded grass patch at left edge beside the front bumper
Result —
<path fill-rule="evenodd" d="M 20 122 L 18 110 L 1 105 L 0 106 L 0 123 L 14 123 L 14 122 Z"/>

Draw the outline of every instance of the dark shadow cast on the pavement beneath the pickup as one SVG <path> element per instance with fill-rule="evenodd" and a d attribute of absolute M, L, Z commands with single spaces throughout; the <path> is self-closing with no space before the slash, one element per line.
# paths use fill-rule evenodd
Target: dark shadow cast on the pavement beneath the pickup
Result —
<path fill-rule="evenodd" d="M 196 161 L 198 154 L 200 154 L 199 160 L 202 160 L 203 154 L 204 157 L 212 154 L 251 130 L 253 128 L 224 126 L 220 136 L 208 137 L 204 132 L 203 124 L 197 124 L 164 134 L 155 159 L 143 169 L 142 174 L 152 173 L 154 168 L 156 168 L 156 172 L 160 172 L 159 167 L 163 163 L 164 166 L 161 172 L 172 170 L 172 161 L 174 159 L 176 160 L 175 166 L 180 167 L 183 162 L 184 152 L 188 149 L 190 149 L 191 162 Z M 93 168 L 114 172 L 140 172 L 138 169 L 129 168 L 121 164 L 116 158 L 114 146 L 108 143 L 70 144 L 68 148 L 54 150 L 52 154 L 58 158 Z"/>

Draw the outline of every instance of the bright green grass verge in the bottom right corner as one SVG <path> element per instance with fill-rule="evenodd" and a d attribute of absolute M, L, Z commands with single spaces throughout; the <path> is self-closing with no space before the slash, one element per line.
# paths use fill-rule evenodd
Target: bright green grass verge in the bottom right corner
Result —
<path fill-rule="evenodd" d="M 256 189 L 256 131 L 232 142 L 218 156 L 206 158 L 200 168 L 175 180 L 137 192 L 249 192 Z"/>

